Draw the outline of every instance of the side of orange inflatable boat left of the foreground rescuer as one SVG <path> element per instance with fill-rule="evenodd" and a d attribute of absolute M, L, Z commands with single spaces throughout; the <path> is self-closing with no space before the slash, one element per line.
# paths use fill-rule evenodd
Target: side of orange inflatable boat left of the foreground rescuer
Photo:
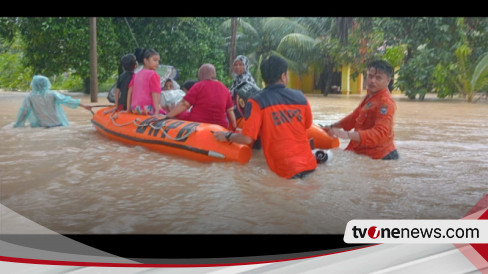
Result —
<path fill-rule="evenodd" d="M 155 119 L 147 115 L 98 110 L 92 124 L 103 135 L 130 145 L 173 154 L 201 162 L 249 162 L 251 148 L 237 143 L 220 142 L 212 131 L 226 131 L 215 124 Z"/>

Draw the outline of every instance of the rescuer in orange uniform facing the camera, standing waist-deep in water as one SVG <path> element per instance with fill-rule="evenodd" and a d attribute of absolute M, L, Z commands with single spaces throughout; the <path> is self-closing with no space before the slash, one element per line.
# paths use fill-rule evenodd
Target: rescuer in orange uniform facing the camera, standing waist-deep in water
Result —
<path fill-rule="evenodd" d="M 393 143 L 396 104 L 388 89 L 393 67 L 380 60 L 369 63 L 367 70 L 368 95 L 351 114 L 324 129 L 333 137 L 351 139 L 346 150 L 373 159 L 396 160 L 399 158 Z M 351 129 L 354 131 L 350 132 Z"/>

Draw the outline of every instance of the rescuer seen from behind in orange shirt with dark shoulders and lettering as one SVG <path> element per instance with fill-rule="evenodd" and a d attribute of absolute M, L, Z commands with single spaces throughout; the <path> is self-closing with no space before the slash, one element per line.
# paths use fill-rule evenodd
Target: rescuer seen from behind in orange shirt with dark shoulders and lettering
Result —
<path fill-rule="evenodd" d="M 244 109 L 242 133 L 215 132 L 219 141 L 251 144 L 258 136 L 269 168 L 278 176 L 303 178 L 317 167 L 306 130 L 312 111 L 299 90 L 286 88 L 288 64 L 276 55 L 260 66 L 266 87 L 251 96 Z"/>

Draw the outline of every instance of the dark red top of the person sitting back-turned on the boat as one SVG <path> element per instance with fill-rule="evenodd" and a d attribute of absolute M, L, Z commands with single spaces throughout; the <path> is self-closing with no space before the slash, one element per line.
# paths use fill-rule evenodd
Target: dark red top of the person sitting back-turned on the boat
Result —
<path fill-rule="evenodd" d="M 178 118 L 188 121 L 229 126 L 227 109 L 232 108 L 232 99 L 227 87 L 217 80 L 197 82 L 186 93 L 185 99 L 192 109 L 188 115 Z"/>

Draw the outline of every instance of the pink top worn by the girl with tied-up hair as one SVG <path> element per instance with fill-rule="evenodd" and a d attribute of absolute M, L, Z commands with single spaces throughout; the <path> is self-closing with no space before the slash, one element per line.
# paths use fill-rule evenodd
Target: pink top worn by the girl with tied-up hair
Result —
<path fill-rule="evenodd" d="M 137 114 L 155 114 L 152 94 L 154 92 L 161 93 L 161 79 L 156 71 L 150 69 L 140 70 L 134 75 L 129 87 L 132 87 L 132 112 Z"/>

